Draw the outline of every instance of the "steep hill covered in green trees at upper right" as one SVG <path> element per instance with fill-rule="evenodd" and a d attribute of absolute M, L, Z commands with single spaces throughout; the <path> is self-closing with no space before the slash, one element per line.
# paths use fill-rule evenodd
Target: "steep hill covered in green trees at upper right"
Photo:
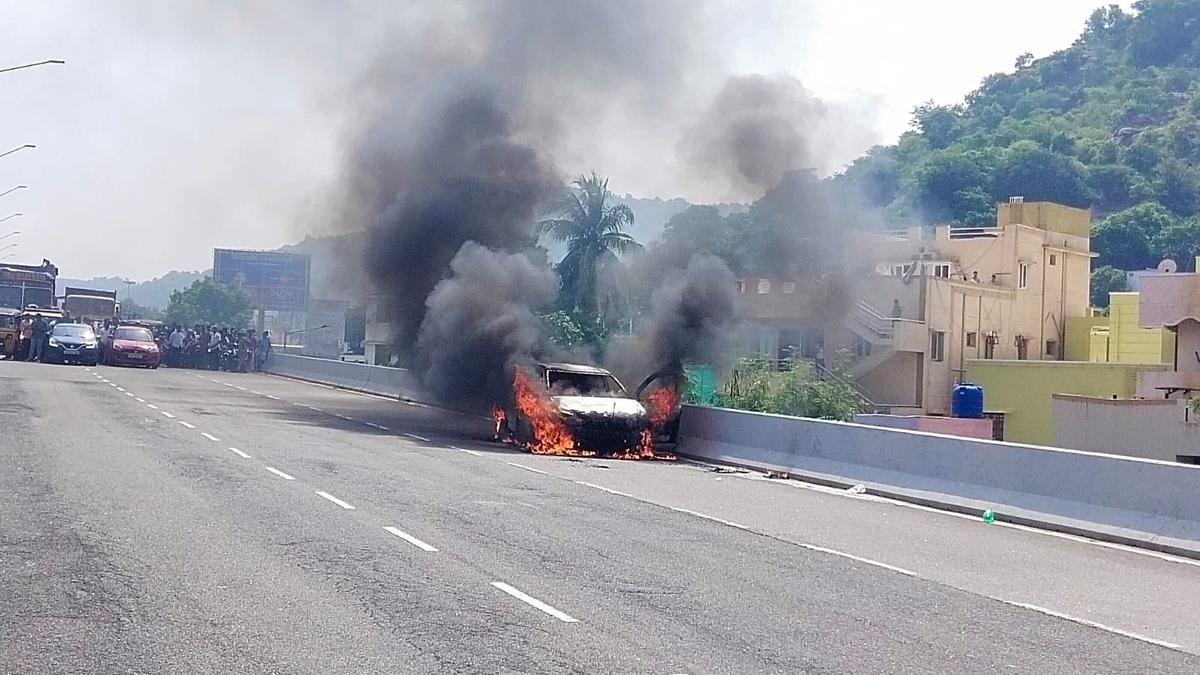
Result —
<path fill-rule="evenodd" d="M 1091 208 L 1093 288 L 1115 270 L 1200 255 L 1200 0 L 1096 10 L 1079 38 L 985 77 L 962 103 L 913 110 L 895 145 L 834 179 L 895 226 L 986 225 L 1010 196 Z M 1109 268 L 1109 269 L 1105 269 Z M 1097 293 L 1093 293 L 1096 295 Z M 1099 298 L 1097 298 L 1099 299 Z"/>

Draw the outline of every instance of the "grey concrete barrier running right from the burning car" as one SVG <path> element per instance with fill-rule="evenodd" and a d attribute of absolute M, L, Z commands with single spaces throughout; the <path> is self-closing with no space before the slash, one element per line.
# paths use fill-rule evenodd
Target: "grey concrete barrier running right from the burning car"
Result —
<path fill-rule="evenodd" d="M 1200 557 L 1200 466 L 690 406 L 679 452 Z"/>

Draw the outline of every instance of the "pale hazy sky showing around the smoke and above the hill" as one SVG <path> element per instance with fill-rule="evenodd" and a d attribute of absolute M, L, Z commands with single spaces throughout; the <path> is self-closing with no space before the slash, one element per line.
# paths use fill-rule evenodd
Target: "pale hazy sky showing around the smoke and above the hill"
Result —
<path fill-rule="evenodd" d="M 487 0 L 480 0 L 487 1 Z M 569 2 L 570 0 L 562 0 Z M 648 0 L 653 1 L 653 0 Z M 703 41 L 715 83 L 791 74 L 853 118 L 822 145 L 827 171 L 892 142 L 908 110 L 959 101 L 1016 55 L 1046 55 L 1079 35 L 1102 0 L 713 0 Z M 48 257 L 66 276 L 149 279 L 204 269 L 211 249 L 275 247 L 322 222 L 340 143 L 380 43 L 430 5 L 319 0 L 0 1 L 0 235 L 12 262 Z M 586 125 L 586 120 L 580 120 Z M 558 157 L 596 168 L 637 196 L 704 193 L 653 147 L 661 129 L 605 126 L 602 142 Z M 596 139 L 592 139 L 595 143 Z M 670 145 L 668 145 L 670 148 Z M 647 156 L 650 155 L 650 156 Z"/>

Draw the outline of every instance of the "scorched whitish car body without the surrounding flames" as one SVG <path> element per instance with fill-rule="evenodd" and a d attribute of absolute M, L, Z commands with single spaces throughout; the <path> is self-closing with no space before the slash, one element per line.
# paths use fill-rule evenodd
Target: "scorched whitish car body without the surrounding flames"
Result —
<path fill-rule="evenodd" d="M 576 448 L 605 454 L 629 452 L 641 444 L 649 414 L 607 370 L 550 363 L 538 364 L 530 375 L 548 393 Z M 515 405 L 508 406 L 505 424 L 518 442 L 530 438 L 529 424 Z"/>

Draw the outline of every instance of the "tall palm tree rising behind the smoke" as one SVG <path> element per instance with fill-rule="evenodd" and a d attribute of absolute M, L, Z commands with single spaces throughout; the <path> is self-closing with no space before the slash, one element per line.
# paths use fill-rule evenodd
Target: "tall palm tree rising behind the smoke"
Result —
<path fill-rule="evenodd" d="M 539 233 L 566 243 L 566 255 L 556 267 L 563 307 L 599 318 L 599 271 L 618 255 L 642 246 L 624 232 L 634 225 L 634 211 L 610 203 L 608 179 L 593 172 L 580 175 L 572 185 L 575 189 L 568 189 L 551 208 L 554 217 L 539 223 Z"/>

